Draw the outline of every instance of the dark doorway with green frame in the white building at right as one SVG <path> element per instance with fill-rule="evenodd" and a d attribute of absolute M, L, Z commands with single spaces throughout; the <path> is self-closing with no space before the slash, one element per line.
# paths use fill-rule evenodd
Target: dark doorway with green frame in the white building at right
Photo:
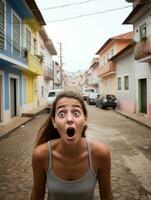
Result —
<path fill-rule="evenodd" d="M 140 80 L 141 112 L 147 113 L 147 83 L 146 79 Z"/>

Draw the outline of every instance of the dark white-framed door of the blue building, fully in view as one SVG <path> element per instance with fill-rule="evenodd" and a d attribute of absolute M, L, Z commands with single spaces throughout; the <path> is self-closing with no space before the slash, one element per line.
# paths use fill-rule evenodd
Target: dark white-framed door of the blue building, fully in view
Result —
<path fill-rule="evenodd" d="M 17 115 L 16 79 L 10 78 L 10 113 L 11 117 Z"/>

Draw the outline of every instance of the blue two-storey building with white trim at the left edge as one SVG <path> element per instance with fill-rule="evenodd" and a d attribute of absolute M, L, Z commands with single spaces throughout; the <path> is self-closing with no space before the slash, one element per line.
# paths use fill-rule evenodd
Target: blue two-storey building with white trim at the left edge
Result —
<path fill-rule="evenodd" d="M 22 112 L 22 72 L 28 69 L 24 20 L 33 13 L 24 0 L 0 0 L 0 122 Z"/>

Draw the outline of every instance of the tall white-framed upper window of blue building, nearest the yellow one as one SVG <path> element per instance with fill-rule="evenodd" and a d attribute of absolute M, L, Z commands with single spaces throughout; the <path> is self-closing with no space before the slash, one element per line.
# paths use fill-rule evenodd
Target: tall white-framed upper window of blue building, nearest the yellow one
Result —
<path fill-rule="evenodd" d="M 13 53 L 20 55 L 20 20 L 13 14 Z"/>

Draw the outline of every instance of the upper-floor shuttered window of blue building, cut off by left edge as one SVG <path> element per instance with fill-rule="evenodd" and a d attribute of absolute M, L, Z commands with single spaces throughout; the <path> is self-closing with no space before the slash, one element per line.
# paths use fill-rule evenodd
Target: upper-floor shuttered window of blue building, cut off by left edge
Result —
<path fill-rule="evenodd" d="M 4 2 L 0 0 L 0 49 L 4 49 L 5 38 L 4 38 Z"/>

